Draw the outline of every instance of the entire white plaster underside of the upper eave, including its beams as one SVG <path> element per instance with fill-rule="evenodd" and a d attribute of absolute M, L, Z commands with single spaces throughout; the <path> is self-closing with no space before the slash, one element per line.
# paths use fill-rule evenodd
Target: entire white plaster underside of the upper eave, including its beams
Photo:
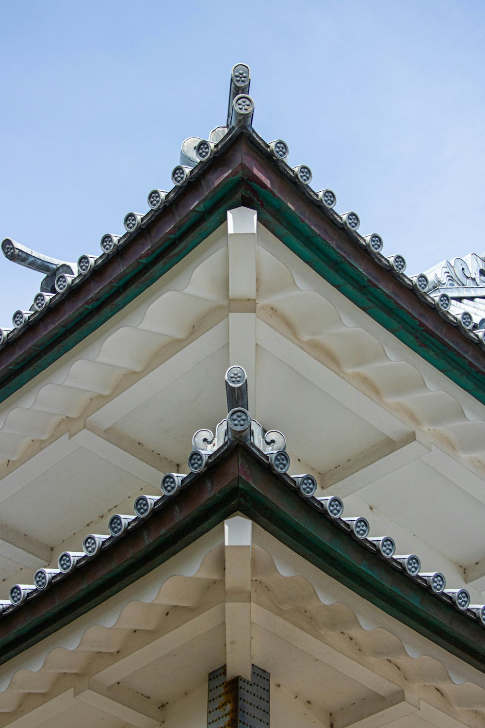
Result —
<path fill-rule="evenodd" d="M 4 403 L 0 598 L 159 493 L 164 472 L 187 472 L 193 432 L 223 419 L 223 376 L 241 364 L 290 472 L 316 475 L 345 515 L 480 601 L 484 406 L 260 224 L 255 235 L 254 211 L 229 220 Z"/>

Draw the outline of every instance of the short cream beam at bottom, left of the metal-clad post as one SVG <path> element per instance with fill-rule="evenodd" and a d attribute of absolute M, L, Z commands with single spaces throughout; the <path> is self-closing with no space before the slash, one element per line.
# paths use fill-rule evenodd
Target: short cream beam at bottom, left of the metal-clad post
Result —
<path fill-rule="evenodd" d="M 108 694 L 103 689 L 97 689 L 95 684 L 89 681 L 88 687 L 74 692 L 74 697 L 81 703 L 91 705 L 92 708 L 135 728 L 158 728 L 161 725 L 163 721 L 161 711 L 149 705 L 148 700 L 137 697 L 127 687 L 123 687 L 119 692 L 123 695 L 114 697 L 113 693 Z M 153 717 L 154 715 L 156 717 Z"/>

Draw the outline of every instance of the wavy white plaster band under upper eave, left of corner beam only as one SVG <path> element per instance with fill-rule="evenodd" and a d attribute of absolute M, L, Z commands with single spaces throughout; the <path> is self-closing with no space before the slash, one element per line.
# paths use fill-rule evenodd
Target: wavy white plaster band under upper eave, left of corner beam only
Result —
<path fill-rule="evenodd" d="M 225 226 L 191 253 L 185 265 L 172 269 L 2 405 L 0 457 L 18 459 L 31 440 L 46 440 L 65 420 L 81 416 L 88 403 L 101 395 L 100 405 L 124 375 L 142 373 L 156 352 L 174 340 L 185 341 L 204 314 L 228 308 L 227 245 Z M 202 258 L 202 259 L 201 259 Z M 217 323 L 217 322 L 216 322 Z M 130 381 L 129 384 L 132 384 Z"/>

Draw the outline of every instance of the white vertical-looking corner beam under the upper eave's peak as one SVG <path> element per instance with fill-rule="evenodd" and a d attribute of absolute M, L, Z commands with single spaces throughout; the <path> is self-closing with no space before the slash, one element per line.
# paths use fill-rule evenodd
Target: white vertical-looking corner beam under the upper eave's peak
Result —
<path fill-rule="evenodd" d="M 249 412 L 255 414 L 256 390 L 256 229 L 249 207 L 228 210 L 229 365 L 244 366 Z"/>

